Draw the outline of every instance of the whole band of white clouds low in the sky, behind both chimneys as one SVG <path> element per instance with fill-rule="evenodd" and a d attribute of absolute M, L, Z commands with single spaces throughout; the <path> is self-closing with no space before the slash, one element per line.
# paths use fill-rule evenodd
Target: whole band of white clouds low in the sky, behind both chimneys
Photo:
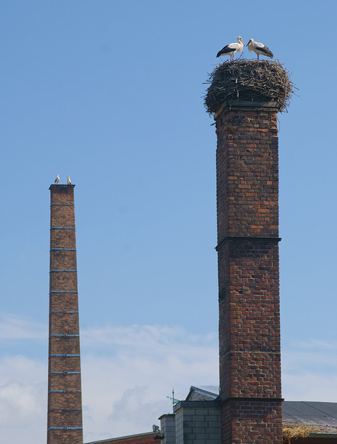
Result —
<path fill-rule="evenodd" d="M 1 319 L 14 339 L 40 343 L 44 325 L 17 316 Z M 0 330 L 3 333 L 3 330 Z M 10 332 L 4 334 L 8 339 Z M 13 338 L 10 338 L 13 339 Z M 283 350 L 286 400 L 335 401 L 336 343 L 294 343 Z M 85 442 L 150 432 L 158 416 L 172 411 L 167 396 L 186 398 L 191 385 L 218 382 L 217 334 L 191 335 L 182 327 L 106 326 L 81 332 Z M 45 441 L 47 357 L 0 358 L 1 444 Z"/>

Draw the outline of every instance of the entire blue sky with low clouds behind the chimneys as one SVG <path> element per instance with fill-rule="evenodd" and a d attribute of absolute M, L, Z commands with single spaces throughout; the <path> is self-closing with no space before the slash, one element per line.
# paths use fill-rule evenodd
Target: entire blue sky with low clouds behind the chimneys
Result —
<path fill-rule="evenodd" d="M 46 435 L 56 173 L 76 184 L 85 441 L 147 432 L 172 386 L 182 399 L 217 384 L 216 137 L 202 97 L 238 35 L 267 44 L 299 88 L 279 114 L 283 397 L 336 400 L 336 9 L 3 1 L 1 443 Z"/>

